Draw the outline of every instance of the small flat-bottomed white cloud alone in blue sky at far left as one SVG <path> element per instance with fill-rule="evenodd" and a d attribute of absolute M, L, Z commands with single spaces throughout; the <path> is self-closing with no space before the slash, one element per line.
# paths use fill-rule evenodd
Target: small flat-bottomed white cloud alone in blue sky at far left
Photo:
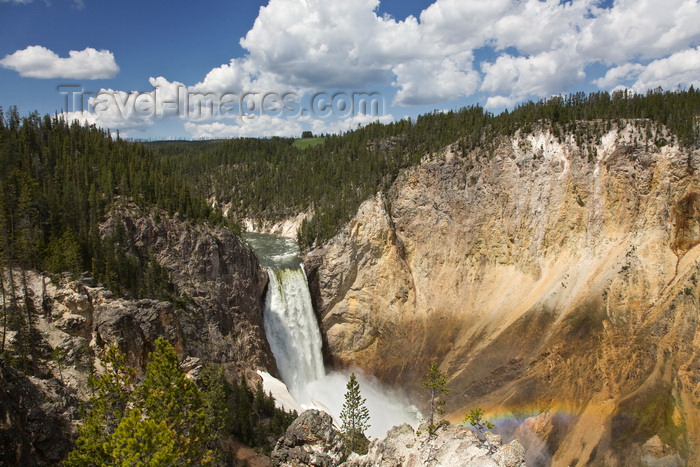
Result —
<path fill-rule="evenodd" d="M 101 79 L 119 72 L 112 52 L 91 47 L 71 50 L 62 58 L 46 47 L 31 45 L 7 55 L 0 65 L 27 78 Z"/>

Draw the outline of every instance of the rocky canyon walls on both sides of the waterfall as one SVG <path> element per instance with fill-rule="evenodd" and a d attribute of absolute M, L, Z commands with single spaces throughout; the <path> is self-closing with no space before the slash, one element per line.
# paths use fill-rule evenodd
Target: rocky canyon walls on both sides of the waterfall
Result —
<path fill-rule="evenodd" d="M 694 465 L 700 152 L 642 120 L 581 125 L 593 127 L 586 144 L 544 122 L 426 154 L 303 252 L 323 358 L 418 405 L 438 363 L 447 419 L 485 409 L 504 443 L 525 445 L 528 465 Z M 293 237 L 311 212 L 246 226 Z M 2 369 L 4 456 L 65 456 L 106 345 L 138 374 L 162 336 L 193 377 L 207 362 L 228 378 L 280 375 L 263 326 L 270 277 L 245 242 L 130 203 L 100 233 L 119 229 L 130 255 L 167 271 L 178 299 L 130 300 L 89 275 L 14 270 L 46 344 L 64 353 L 46 374 Z"/>

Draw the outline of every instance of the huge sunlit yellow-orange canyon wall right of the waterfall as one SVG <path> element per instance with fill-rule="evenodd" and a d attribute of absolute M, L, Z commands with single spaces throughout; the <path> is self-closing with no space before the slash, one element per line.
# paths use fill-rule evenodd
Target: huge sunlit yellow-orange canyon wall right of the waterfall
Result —
<path fill-rule="evenodd" d="M 700 153 L 643 126 L 403 172 L 307 255 L 329 358 L 416 397 L 436 361 L 453 419 L 530 417 L 557 465 L 700 462 Z"/>

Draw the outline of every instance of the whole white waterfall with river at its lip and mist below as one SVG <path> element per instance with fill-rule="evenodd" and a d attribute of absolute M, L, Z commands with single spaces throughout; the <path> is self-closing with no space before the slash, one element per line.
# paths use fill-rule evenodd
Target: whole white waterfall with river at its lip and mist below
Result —
<path fill-rule="evenodd" d="M 403 423 L 417 425 L 420 413 L 399 390 L 360 369 L 326 373 L 321 333 L 296 242 L 265 234 L 246 233 L 244 238 L 268 272 L 265 334 L 282 381 L 296 402 L 326 407 L 338 422 L 347 382 L 354 372 L 370 413 L 368 436 L 383 437 L 391 427 Z"/>

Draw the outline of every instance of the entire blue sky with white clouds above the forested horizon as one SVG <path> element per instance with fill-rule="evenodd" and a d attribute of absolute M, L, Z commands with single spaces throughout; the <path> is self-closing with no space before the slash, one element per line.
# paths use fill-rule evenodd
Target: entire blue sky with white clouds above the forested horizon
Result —
<path fill-rule="evenodd" d="M 135 139 L 700 86 L 700 0 L 0 0 L 0 105 Z"/>

